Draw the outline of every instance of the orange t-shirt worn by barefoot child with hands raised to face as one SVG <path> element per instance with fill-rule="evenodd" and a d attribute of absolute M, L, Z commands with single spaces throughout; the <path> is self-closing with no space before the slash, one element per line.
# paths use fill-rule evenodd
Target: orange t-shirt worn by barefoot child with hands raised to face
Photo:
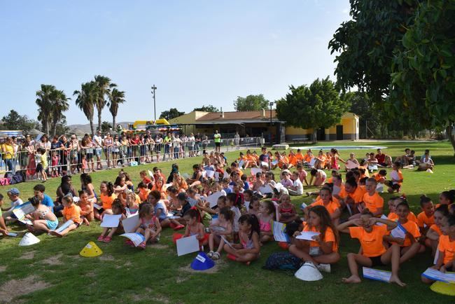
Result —
<path fill-rule="evenodd" d="M 381 256 L 387 249 L 382 243 L 382 237 L 388 233 L 387 226 L 373 225 L 373 230 L 368 233 L 362 227 L 349 227 L 349 234 L 353 239 L 360 241 L 363 255 L 367 257 Z"/>

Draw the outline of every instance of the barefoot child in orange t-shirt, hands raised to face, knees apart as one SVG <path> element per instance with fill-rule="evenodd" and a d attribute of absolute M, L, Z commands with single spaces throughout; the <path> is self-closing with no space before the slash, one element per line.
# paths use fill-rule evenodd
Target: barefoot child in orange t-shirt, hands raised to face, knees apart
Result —
<path fill-rule="evenodd" d="M 381 226 L 377 225 L 381 223 Z M 349 227 L 357 226 L 357 227 Z M 358 276 L 358 265 L 374 267 L 378 265 L 392 264 L 392 276 L 390 282 L 400 286 L 405 286 L 398 277 L 400 268 L 400 247 L 398 244 L 393 244 L 391 247 L 384 247 L 383 237 L 387 231 L 393 230 L 398 226 L 394 221 L 386 219 L 378 219 L 368 211 L 364 210 L 360 215 L 360 219 L 353 219 L 342 223 L 337 227 L 340 232 L 349 233 L 353 239 L 358 239 L 360 242 L 359 254 L 347 254 L 349 270 L 351 277 L 344 277 L 344 283 L 360 283 Z"/>

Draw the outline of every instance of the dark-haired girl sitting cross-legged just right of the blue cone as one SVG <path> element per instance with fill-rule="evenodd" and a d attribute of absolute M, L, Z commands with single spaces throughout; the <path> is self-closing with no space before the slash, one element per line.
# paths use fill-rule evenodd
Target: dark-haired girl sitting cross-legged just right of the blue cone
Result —
<path fill-rule="evenodd" d="M 250 265 L 259 258 L 260 228 L 258 218 L 253 214 L 244 214 L 239 219 L 240 244 L 224 244 L 224 250 L 232 261 Z"/>

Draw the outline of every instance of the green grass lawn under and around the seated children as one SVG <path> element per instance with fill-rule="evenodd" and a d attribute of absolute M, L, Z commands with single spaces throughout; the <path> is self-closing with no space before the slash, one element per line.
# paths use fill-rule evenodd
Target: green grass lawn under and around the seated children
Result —
<path fill-rule="evenodd" d="M 414 213 L 420 212 L 421 194 L 425 193 L 437 203 L 440 192 L 455 188 L 455 158 L 447 142 L 335 143 L 337 146 L 375 144 L 387 146 L 384 153 L 393 159 L 402 155 L 406 147 L 416 150 L 417 156 L 430 148 L 436 164 L 434 174 L 403 170 L 402 193 L 407 195 Z M 363 158 L 367 151 L 355 152 L 358 158 Z M 234 160 L 237 154 L 227 153 L 228 160 Z M 349 151 L 341 151 L 342 158 L 348 154 Z M 201 159 L 179 160 L 181 172 L 191 172 L 191 166 Z M 138 184 L 139 171 L 154 166 L 128 167 L 125 171 L 131 174 L 134 184 Z M 158 167 L 167 176 L 171 163 L 160 163 Z M 113 181 L 117 173 L 117 170 L 109 170 L 92 174 L 95 188 L 102 180 Z M 32 195 L 34 184 L 17 185 L 22 199 Z M 58 185 L 59 179 L 48 181 L 46 193 L 55 198 Z M 73 185 L 80 188 L 78 176 L 73 177 Z M 7 189 L 0 187 L 5 197 Z M 386 193 L 382 195 L 385 201 L 389 198 Z M 302 202 L 309 202 L 309 198 L 293 198 L 295 205 Z M 3 207 L 7 206 L 8 203 Z M 13 226 L 12 230 L 24 229 Z M 169 228 L 162 233 L 160 244 L 151 245 L 145 251 L 127 248 L 123 237 L 114 237 L 110 244 L 98 243 L 104 251 L 102 256 L 79 256 L 79 251 L 87 242 L 95 241 L 101 230 L 99 223 L 94 222 L 61 239 L 40 235 L 41 242 L 30 247 L 19 247 L 20 237 L 0 237 L 0 302 L 454 303 L 454 298 L 434 293 L 421 283 L 421 272 L 433 261 L 428 251 L 402 265 L 400 278 L 407 283 L 405 288 L 367 279 L 361 284 L 346 285 L 341 282 L 342 277 L 349 275 L 346 254 L 358 251 L 358 242 L 346 235 L 340 244 L 342 260 L 332 266 L 332 273 L 323 273 L 324 278 L 318 282 L 303 282 L 293 277 L 293 272 L 262 270 L 269 254 L 281 251 L 275 242 L 265 244 L 260 259 L 249 266 L 228 261 L 223 255 L 216 262 L 216 268 L 209 272 L 193 272 L 189 265 L 196 254 L 177 257 L 172 243 L 174 231 Z"/>

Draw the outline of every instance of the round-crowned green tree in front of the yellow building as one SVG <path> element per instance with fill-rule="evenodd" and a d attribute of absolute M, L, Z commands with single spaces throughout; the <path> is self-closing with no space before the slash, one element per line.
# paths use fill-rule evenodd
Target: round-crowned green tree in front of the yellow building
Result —
<path fill-rule="evenodd" d="M 311 85 L 289 87 L 290 92 L 276 101 L 276 115 L 286 125 L 316 130 L 328 128 L 341 121 L 344 112 L 349 110 L 349 102 L 339 98 L 335 83 L 327 77 L 316 79 Z"/>

